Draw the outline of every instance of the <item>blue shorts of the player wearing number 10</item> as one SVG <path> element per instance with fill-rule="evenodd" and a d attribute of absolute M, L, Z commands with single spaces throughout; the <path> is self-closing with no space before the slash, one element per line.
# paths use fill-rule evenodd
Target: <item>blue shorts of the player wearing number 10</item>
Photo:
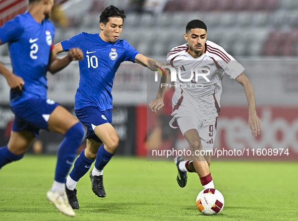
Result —
<path fill-rule="evenodd" d="M 94 133 L 94 128 L 104 123 L 112 124 L 112 109 L 101 111 L 97 107 L 88 106 L 75 110 L 75 113 L 77 118 L 87 127 L 86 139 L 93 139 L 96 142 L 102 143 Z"/>

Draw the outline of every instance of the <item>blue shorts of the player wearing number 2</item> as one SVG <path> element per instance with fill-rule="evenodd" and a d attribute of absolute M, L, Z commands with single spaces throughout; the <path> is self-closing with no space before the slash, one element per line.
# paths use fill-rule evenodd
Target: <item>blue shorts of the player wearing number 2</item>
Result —
<path fill-rule="evenodd" d="M 29 131 L 36 137 L 40 129 L 48 130 L 49 115 L 59 104 L 50 99 L 30 98 L 11 107 L 15 113 L 12 130 L 15 132 Z"/>

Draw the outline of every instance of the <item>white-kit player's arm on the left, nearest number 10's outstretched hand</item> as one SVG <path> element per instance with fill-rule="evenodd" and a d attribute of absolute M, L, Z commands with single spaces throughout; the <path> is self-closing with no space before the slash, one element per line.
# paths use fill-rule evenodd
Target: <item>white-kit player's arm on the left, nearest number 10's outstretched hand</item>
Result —
<path fill-rule="evenodd" d="M 158 92 L 156 95 L 156 99 L 151 101 L 148 105 L 149 110 L 153 113 L 156 113 L 157 110 L 160 110 L 164 106 L 163 104 L 163 95 L 166 89 L 166 86 L 163 84 L 167 84 L 170 79 L 170 71 L 168 69 L 164 70 L 165 76 L 162 76 L 159 83 Z"/>

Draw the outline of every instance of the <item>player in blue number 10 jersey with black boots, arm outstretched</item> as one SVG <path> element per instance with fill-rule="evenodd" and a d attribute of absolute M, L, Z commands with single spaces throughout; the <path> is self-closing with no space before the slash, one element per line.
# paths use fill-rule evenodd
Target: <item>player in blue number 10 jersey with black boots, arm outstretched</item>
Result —
<path fill-rule="evenodd" d="M 87 127 L 87 147 L 76 160 L 66 182 L 69 202 L 75 209 L 79 209 L 76 184 L 94 161 L 95 166 L 90 172 L 92 190 L 97 196 L 105 197 L 102 170 L 119 144 L 119 137 L 111 125 L 111 90 L 118 67 L 126 60 L 144 66 L 149 61 L 151 70 L 155 70 L 151 65 L 162 65 L 140 54 L 126 40 L 118 39 L 125 18 L 123 10 L 109 6 L 100 15 L 100 34 L 82 32 L 55 45 L 57 53 L 73 47 L 79 47 L 84 52 L 84 59 L 79 61 L 80 83 L 75 99 L 75 112 Z"/>

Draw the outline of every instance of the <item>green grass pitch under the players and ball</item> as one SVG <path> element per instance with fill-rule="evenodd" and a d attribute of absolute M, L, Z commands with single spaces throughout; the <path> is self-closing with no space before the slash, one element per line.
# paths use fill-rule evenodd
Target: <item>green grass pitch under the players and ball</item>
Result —
<path fill-rule="evenodd" d="M 89 174 L 78 183 L 80 209 L 59 214 L 46 199 L 55 156 L 26 155 L 0 171 L 0 220 L 297 220 L 298 164 L 213 162 L 211 173 L 225 197 L 223 211 L 203 216 L 196 197 L 203 189 L 196 174 L 176 183 L 173 162 L 114 157 L 104 171 L 106 197 L 91 190 Z"/>

